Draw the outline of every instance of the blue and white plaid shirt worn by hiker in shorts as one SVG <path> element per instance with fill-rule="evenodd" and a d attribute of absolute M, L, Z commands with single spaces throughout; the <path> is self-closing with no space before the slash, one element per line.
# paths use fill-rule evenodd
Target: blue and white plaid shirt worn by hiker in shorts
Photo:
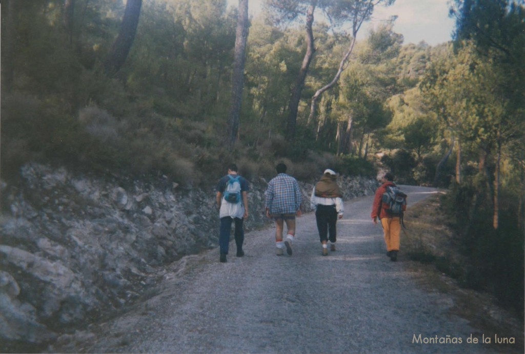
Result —
<path fill-rule="evenodd" d="M 297 180 L 284 173 L 270 180 L 264 196 L 265 207 L 270 214 L 296 213 L 301 206 L 301 190 Z"/>

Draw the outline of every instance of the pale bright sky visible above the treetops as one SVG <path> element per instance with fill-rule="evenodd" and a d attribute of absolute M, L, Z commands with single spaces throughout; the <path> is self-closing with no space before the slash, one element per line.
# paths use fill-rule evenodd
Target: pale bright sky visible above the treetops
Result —
<path fill-rule="evenodd" d="M 405 38 L 404 44 L 417 44 L 424 40 L 427 44 L 437 44 L 451 40 L 454 19 L 448 17 L 449 0 L 396 0 L 389 7 L 378 6 L 374 9 L 373 18 L 363 24 L 358 40 L 366 38 L 369 30 L 393 15 L 397 15 L 394 31 Z M 256 15 L 262 0 L 249 0 L 248 12 Z M 237 7 L 238 0 L 228 0 L 228 5 Z"/>

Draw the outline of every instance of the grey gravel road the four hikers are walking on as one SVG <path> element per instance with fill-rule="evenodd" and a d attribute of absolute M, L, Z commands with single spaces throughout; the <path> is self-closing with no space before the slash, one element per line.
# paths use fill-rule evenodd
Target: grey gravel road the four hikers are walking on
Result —
<path fill-rule="evenodd" d="M 435 192 L 403 189 L 409 208 Z M 449 301 L 416 285 L 403 250 L 398 262 L 386 257 L 371 204 L 372 196 L 345 203 L 328 256 L 313 213 L 297 219 L 292 256 L 275 255 L 273 227 L 246 234 L 244 258 L 234 243 L 227 263 L 218 250 L 187 256 L 167 269 L 158 295 L 100 325 L 95 342 L 75 351 L 491 352 L 479 331 L 449 313 Z M 478 344 L 467 343 L 471 334 Z"/>

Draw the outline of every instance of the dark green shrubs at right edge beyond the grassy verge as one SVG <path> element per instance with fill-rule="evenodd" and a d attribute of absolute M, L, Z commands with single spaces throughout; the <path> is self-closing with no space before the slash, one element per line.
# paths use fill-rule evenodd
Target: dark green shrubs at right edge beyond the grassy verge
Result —
<path fill-rule="evenodd" d="M 443 210 L 453 220 L 451 224 L 461 250 L 471 262 L 461 281 L 469 287 L 492 292 L 502 304 L 522 313 L 524 234 L 514 210 L 518 201 L 502 187 L 496 230 L 492 226 L 490 196 L 484 185 L 483 179 L 476 177 L 461 186 L 453 184 L 443 197 Z"/>

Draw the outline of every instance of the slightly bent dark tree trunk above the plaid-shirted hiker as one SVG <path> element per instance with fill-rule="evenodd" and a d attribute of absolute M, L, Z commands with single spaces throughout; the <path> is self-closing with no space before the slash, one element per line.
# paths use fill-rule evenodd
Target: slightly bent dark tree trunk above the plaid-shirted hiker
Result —
<path fill-rule="evenodd" d="M 293 87 L 291 98 L 290 98 L 290 103 L 288 105 L 286 139 L 290 142 L 295 140 L 297 113 L 299 110 L 298 109 L 299 101 L 301 100 L 301 92 L 304 87 L 304 80 L 306 79 L 308 68 L 310 66 L 310 62 L 312 61 L 313 53 L 316 51 L 316 49 L 313 47 L 313 31 L 312 31 L 313 12 L 316 9 L 316 6 L 317 6 L 317 0 L 312 0 L 307 10 L 307 14 L 306 14 L 306 44 L 307 44 L 306 53 L 304 54 L 301 69 L 299 70 L 296 84 L 295 84 L 295 87 Z"/>

